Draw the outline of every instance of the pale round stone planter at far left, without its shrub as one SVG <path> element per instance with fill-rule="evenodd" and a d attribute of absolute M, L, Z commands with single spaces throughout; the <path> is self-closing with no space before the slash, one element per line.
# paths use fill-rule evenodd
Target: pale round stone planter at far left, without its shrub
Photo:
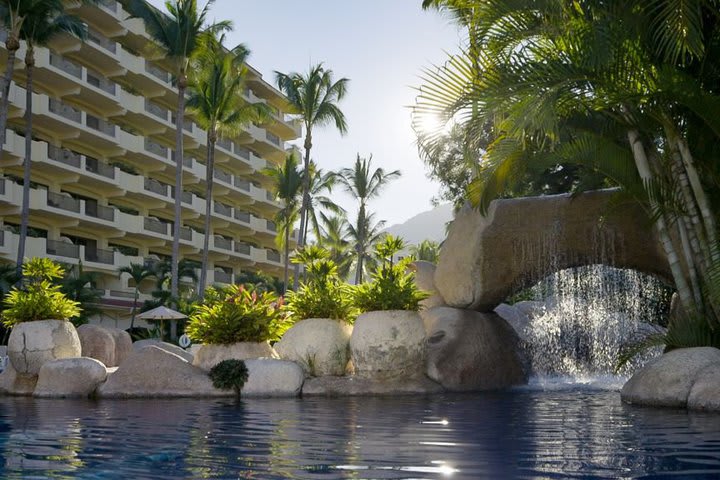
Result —
<path fill-rule="evenodd" d="M 81 355 L 80 338 L 72 323 L 37 320 L 18 323 L 8 339 L 8 357 L 20 374 L 37 375 L 45 362 Z"/>

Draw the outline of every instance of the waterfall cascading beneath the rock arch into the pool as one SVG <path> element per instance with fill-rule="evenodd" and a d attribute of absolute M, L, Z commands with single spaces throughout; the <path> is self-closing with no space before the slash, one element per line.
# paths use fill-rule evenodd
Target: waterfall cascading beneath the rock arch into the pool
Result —
<path fill-rule="evenodd" d="M 525 290 L 523 301 L 515 303 L 525 318 L 518 330 L 531 384 L 599 383 L 615 388 L 660 353 L 649 350 L 616 372 L 623 345 L 662 331 L 659 324 L 667 319 L 670 292 L 654 277 L 604 265 L 613 263 L 615 242 L 604 234 L 594 237 L 596 258 L 603 264 L 557 271 Z M 554 243 L 551 232 L 541 248 L 552 250 Z"/>

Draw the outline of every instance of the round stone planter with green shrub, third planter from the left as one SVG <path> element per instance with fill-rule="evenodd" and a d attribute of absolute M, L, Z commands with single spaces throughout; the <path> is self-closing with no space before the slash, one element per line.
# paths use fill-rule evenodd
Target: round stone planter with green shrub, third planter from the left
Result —
<path fill-rule="evenodd" d="M 343 375 L 348 362 L 350 325 L 357 315 L 352 288 L 340 280 L 326 250 L 306 247 L 294 258 L 305 264 L 307 281 L 287 294 L 292 328 L 275 344 L 278 354 L 311 376 Z"/>

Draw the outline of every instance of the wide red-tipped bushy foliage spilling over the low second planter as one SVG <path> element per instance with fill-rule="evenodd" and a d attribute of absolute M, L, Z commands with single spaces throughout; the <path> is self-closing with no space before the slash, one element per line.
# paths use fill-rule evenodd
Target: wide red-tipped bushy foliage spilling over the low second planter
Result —
<path fill-rule="evenodd" d="M 282 299 L 274 293 L 258 293 L 242 285 L 209 290 L 186 328 L 195 342 L 227 345 L 278 340 L 288 327 L 280 312 Z"/>

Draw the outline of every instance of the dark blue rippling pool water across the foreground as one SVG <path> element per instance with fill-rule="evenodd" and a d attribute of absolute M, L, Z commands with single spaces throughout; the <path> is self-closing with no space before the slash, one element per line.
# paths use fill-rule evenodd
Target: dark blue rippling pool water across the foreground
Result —
<path fill-rule="evenodd" d="M 0 398 L 0 478 L 720 478 L 720 415 L 570 385 L 395 398 Z"/>

